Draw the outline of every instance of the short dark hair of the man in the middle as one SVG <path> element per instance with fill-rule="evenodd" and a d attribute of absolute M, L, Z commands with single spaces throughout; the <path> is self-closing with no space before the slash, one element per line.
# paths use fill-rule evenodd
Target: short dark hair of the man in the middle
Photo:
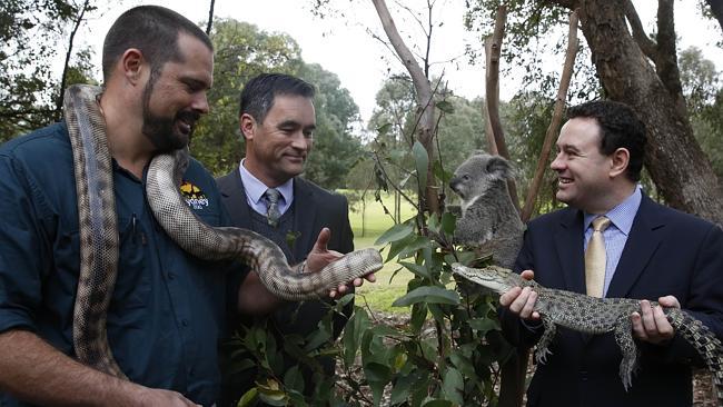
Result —
<path fill-rule="evenodd" d="M 261 73 L 251 78 L 241 91 L 238 116 L 250 115 L 264 122 L 277 96 L 300 96 L 314 98 L 314 86 L 305 80 L 285 73 Z"/>

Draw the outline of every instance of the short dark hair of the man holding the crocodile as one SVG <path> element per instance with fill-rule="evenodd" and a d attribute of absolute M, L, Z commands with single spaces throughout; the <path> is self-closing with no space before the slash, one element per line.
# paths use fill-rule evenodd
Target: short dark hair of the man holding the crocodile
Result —
<path fill-rule="evenodd" d="M 595 100 L 571 107 L 567 109 L 567 118 L 597 120 L 601 131 L 600 151 L 610 156 L 618 148 L 627 149 L 630 162 L 625 173 L 634 182 L 641 179 L 647 138 L 645 123 L 630 106 L 612 100 Z"/>

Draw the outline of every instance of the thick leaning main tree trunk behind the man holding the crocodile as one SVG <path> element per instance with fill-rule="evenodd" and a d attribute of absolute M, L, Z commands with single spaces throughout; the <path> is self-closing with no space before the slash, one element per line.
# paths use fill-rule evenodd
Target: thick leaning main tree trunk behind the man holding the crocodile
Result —
<path fill-rule="evenodd" d="M 625 8 L 610 0 L 577 3 L 605 93 L 632 106 L 647 127 L 645 166 L 666 204 L 723 225 L 723 187 L 680 107 L 681 95 L 668 91 L 631 36 Z"/>

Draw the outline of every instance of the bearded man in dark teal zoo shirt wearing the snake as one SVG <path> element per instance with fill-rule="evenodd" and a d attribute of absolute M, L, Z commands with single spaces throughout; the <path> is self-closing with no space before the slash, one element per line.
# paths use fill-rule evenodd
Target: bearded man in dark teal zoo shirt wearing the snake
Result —
<path fill-rule="evenodd" d="M 211 42 L 192 22 L 160 7 L 133 8 L 108 32 L 105 87 L 86 100 L 102 117 L 92 126 L 105 125 L 112 156 L 119 264 L 105 330 L 128 380 L 75 359 L 80 237 L 70 126 L 0 147 L 0 405 L 212 405 L 227 312 L 281 304 L 260 284 L 241 286 L 240 267 L 185 254 L 148 206 L 148 163 L 188 143 L 208 111 L 212 64 Z M 191 159 L 182 178 L 196 215 L 228 225 L 212 177 Z M 337 258 L 327 239 L 317 240 L 307 269 Z"/>

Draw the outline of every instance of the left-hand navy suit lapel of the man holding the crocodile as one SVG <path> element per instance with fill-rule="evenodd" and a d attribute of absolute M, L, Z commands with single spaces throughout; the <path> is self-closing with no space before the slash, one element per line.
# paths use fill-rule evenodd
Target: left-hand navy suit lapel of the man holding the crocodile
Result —
<path fill-rule="evenodd" d="M 583 217 L 568 209 L 555 231 L 555 248 L 565 280 L 565 289 L 585 292 L 585 265 L 583 252 Z"/>

